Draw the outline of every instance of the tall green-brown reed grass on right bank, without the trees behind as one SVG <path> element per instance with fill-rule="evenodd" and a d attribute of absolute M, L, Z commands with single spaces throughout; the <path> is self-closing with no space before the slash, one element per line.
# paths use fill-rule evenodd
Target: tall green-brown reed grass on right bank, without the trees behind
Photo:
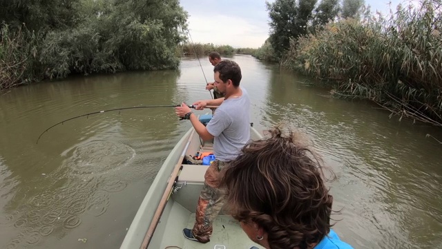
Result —
<path fill-rule="evenodd" d="M 291 41 L 282 66 L 326 80 L 343 98 L 367 98 L 400 118 L 442 126 L 441 6 L 398 6 L 342 19 Z"/>

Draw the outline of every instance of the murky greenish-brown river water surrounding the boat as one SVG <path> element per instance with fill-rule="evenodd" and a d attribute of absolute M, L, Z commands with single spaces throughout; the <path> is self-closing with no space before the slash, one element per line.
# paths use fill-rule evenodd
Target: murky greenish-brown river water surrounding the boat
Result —
<path fill-rule="evenodd" d="M 442 248 L 441 129 L 329 98 L 311 79 L 251 56 L 232 59 L 256 129 L 299 129 L 334 170 L 340 214 L 332 218 L 343 240 L 354 248 Z M 205 57 L 201 64 L 213 81 L 213 66 Z M 173 108 L 132 109 L 71 120 L 37 138 L 84 113 L 209 99 L 202 68 L 182 59 L 179 71 L 78 76 L 1 92 L 0 248 L 119 248 L 191 124 Z"/>

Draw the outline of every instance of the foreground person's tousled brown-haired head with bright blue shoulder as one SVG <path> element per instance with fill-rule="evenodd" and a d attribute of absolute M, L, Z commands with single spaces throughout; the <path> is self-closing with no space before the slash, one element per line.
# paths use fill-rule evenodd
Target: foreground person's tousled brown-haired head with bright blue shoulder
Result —
<path fill-rule="evenodd" d="M 224 172 L 228 212 L 268 249 L 352 248 L 330 229 L 333 197 L 320 160 L 294 133 L 270 134 L 249 142 Z"/>

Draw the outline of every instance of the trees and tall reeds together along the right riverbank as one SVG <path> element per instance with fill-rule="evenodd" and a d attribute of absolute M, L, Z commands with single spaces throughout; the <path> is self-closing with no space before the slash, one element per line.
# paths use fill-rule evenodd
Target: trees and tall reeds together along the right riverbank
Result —
<path fill-rule="evenodd" d="M 399 5 L 390 15 L 373 15 L 358 1 L 347 1 L 347 10 L 333 0 L 289 2 L 267 4 L 271 35 L 256 53 L 273 48 L 266 54 L 281 66 L 323 80 L 339 98 L 369 99 L 399 119 L 442 126 L 440 0 Z"/>

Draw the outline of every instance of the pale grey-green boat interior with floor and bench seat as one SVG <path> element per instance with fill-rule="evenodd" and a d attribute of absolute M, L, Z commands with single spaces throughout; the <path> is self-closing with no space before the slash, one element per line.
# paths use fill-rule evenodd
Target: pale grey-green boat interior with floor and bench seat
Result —
<path fill-rule="evenodd" d="M 198 136 L 198 135 L 197 135 Z M 186 155 L 195 155 L 196 152 L 208 151 L 213 153 L 213 141 L 192 140 Z M 247 237 L 238 221 L 223 211 L 213 222 L 213 233 L 209 243 L 199 243 L 185 239 L 183 228 L 193 228 L 195 223 L 195 210 L 204 185 L 204 174 L 207 165 L 182 165 L 182 171 L 178 177 L 175 193 L 169 199 L 166 209 L 155 230 L 155 236 L 151 241 L 152 248 L 168 248 L 178 246 L 179 248 L 195 249 L 249 249 L 253 246 L 260 248 Z M 179 189 L 178 189 L 179 188 Z M 151 248 L 151 247 L 149 247 Z M 170 247 L 169 247 L 170 248 Z M 173 247 L 171 247 L 173 248 Z M 176 247 L 175 247 L 176 248 Z"/>

